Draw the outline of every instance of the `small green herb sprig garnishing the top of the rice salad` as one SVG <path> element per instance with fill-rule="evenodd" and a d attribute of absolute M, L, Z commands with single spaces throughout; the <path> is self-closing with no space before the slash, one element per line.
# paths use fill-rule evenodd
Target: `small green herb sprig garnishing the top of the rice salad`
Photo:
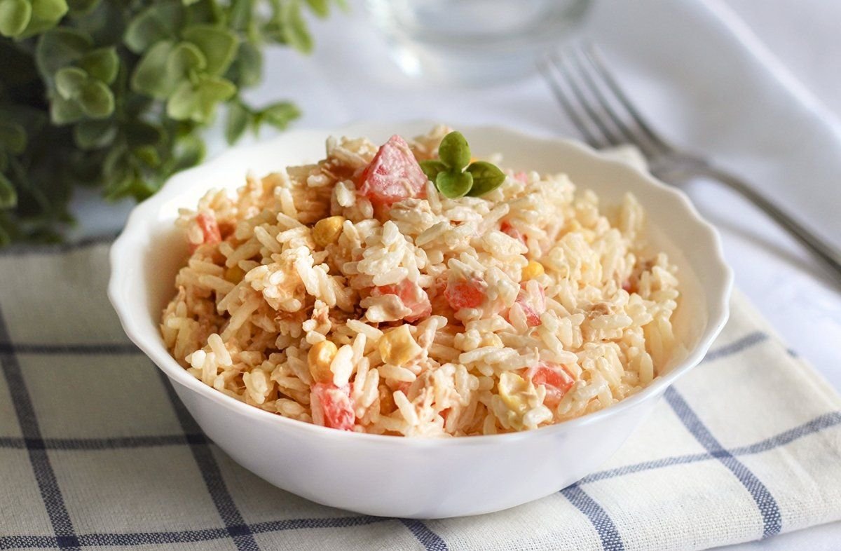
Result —
<path fill-rule="evenodd" d="M 421 161 L 421 169 L 447 199 L 479 197 L 505 182 L 505 174 L 496 165 L 470 162 L 470 158 L 468 140 L 461 132 L 450 132 L 438 146 L 438 159 Z"/>

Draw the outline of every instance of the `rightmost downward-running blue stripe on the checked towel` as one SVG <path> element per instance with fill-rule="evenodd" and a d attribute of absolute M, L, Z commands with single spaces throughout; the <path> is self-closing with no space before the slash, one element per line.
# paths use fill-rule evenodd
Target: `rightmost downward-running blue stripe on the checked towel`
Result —
<path fill-rule="evenodd" d="M 754 497 L 756 505 L 759 507 L 759 513 L 762 515 L 763 531 L 762 537 L 769 538 L 775 534 L 780 533 L 782 529 L 782 516 L 780 515 L 780 507 L 777 506 L 777 501 L 771 495 L 768 488 L 762 484 L 762 481 L 748 469 L 741 461 L 733 457 L 733 453 L 724 449 L 716 437 L 712 436 L 710 430 L 704 425 L 703 421 L 692 411 L 683 396 L 678 394 L 678 391 L 672 387 L 666 389 L 666 401 L 672 406 L 674 413 L 680 418 L 684 426 L 696 437 L 696 440 L 701 443 L 701 446 L 717 458 L 722 464 L 730 469 L 736 478 Z"/>

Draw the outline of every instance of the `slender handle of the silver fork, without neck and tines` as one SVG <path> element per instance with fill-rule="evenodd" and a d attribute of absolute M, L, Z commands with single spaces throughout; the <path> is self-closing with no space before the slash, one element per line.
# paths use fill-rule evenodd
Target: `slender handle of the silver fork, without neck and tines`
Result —
<path fill-rule="evenodd" d="M 776 220 L 785 230 L 788 230 L 791 236 L 794 236 L 797 241 L 800 241 L 803 246 L 806 246 L 816 257 L 822 260 L 838 280 L 838 283 L 841 283 L 841 251 L 830 245 L 827 241 L 822 240 L 822 238 L 812 233 L 812 231 L 807 230 L 800 222 L 791 218 L 791 216 L 785 214 L 777 205 L 755 192 L 754 188 L 751 188 L 741 178 L 733 176 L 730 172 L 717 167 L 707 166 L 701 172 L 702 176 L 711 177 L 723 183 L 758 206 L 759 209 L 764 210 L 767 215 Z"/>

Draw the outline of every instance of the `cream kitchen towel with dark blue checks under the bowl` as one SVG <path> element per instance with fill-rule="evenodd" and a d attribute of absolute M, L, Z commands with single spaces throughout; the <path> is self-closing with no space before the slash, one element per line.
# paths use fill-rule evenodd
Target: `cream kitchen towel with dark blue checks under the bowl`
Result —
<path fill-rule="evenodd" d="M 127 342 L 107 250 L 0 253 L 0 548 L 704 548 L 841 519 L 841 399 L 738 295 L 706 361 L 593 474 L 420 522 L 315 505 L 214 447 Z"/>

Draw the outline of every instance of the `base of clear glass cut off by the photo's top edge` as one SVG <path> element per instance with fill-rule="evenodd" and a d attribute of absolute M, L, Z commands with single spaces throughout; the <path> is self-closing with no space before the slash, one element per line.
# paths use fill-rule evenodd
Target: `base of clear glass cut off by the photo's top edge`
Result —
<path fill-rule="evenodd" d="M 534 71 L 569 39 L 590 0 L 367 0 L 404 72 L 484 83 Z"/>

